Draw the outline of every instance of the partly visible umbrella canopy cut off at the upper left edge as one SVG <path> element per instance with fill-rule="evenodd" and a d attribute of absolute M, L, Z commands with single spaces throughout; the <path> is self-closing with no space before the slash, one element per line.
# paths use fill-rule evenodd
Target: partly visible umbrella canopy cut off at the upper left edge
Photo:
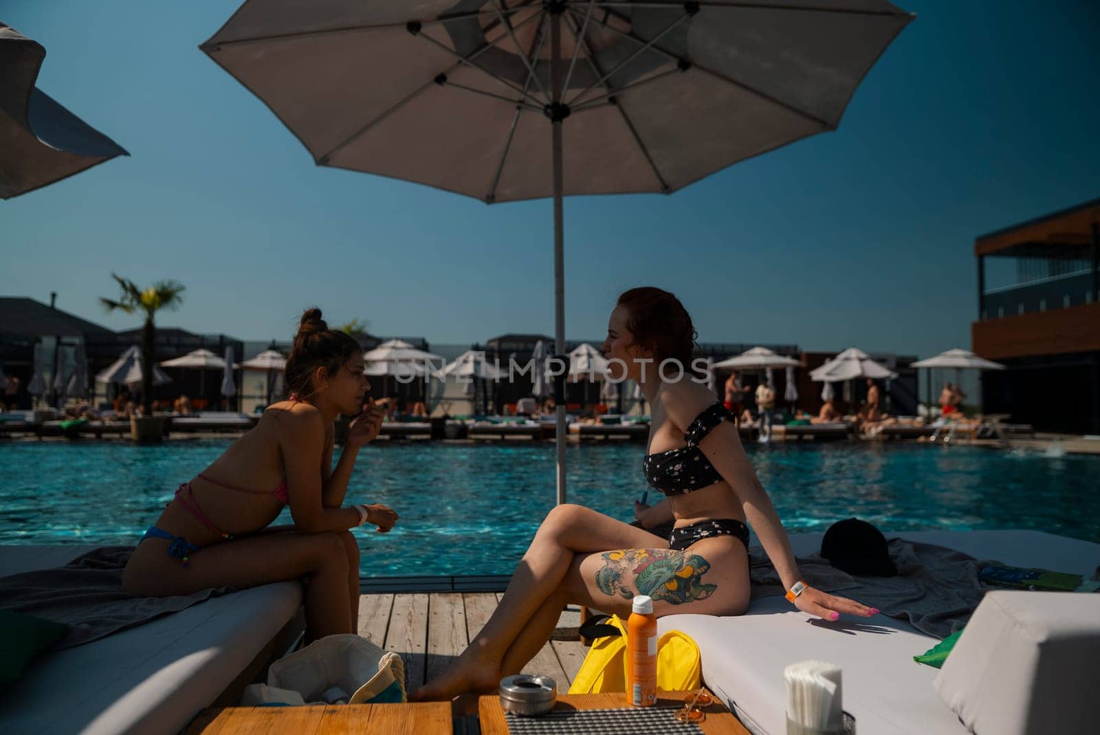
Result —
<path fill-rule="evenodd" d="M 0 23 L 0 199 L 130 155 L 34 86 L 41 44 Z"/>

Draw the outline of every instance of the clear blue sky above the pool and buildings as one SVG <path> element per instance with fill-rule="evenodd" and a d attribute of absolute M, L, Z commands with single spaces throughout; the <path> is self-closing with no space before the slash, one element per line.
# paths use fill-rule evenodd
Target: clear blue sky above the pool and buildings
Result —
<path fill-rule="evenodd" d="M 113 328 L 110 272 L 172 277 L 161 323 L 285 338 L 300 310 L 432 342 L 552 333 L 549 200 L 488 207 L 316 167 L 198 48 L 237 0 L 0 0 L 38 86 L 131 157 L 0 202 L 0 294 Z M 566 336 L 617 294 L 676 293 L 701 341 L 927 356 L 969 347 L 974 238 L 1100 196 L 1100 7 L 900 3 L 917 13 L 836 132 L 672 196 L 565 200 Z"/>

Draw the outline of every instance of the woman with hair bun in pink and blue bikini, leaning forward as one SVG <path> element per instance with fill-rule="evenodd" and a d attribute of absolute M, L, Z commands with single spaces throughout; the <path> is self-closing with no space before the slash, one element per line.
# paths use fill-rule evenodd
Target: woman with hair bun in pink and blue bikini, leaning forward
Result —
<path fill-rule="evenodd" d="M 378 436 L 382 412 L 363 404 L 371 384 L 359 343 L 329 329 L 317 308 L 301 316 L 286 383 L 286 401 L 179 485 L 130 557 L 123 590 L 166 596 L 305 578 L 307 639 L 355 632 L 359 545 L 349 529 L 371 524 L 385 533 L 397 522 L 385 505 L 344 504 L 355 458 Z M 355 418 L 333 468 L 339 414 Z M 294 525 L 270 526 L 284 505 Z"/>

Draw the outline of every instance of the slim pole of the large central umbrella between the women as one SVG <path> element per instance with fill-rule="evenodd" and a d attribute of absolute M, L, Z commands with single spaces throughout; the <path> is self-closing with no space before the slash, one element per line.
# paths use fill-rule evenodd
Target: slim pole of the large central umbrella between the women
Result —
<path fill-rule="evenodd" d="M 550 14 L 550 85 L 553 90 L 553 113 L 550 127 L 553 139 L 553 298 L 554 298 L 554 349 L 558 354 L 565 353 L 565 266 L 564 266 L 564 233 L 562 213 L 562 153 L 561 153 L 561 10 Z M 558 375 L 556 385 L 562 385 L 562 376 Z M 554 423 L 554 443 L 558 449 L 558 504 L 565 502 L 565 401 L 564 391 L 558 396 Z"/>

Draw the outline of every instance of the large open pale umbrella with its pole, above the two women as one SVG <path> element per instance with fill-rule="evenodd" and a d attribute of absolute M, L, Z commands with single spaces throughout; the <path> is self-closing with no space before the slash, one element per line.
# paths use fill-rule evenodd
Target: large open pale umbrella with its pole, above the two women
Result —
<path fill-rule="evenodd" d="M 201 48 L 319 165 L 552 196 L 562 355 L 564 195 L 670 194 L 834 130 L 911 20 L 886 0 L 246 0 Z"/>

